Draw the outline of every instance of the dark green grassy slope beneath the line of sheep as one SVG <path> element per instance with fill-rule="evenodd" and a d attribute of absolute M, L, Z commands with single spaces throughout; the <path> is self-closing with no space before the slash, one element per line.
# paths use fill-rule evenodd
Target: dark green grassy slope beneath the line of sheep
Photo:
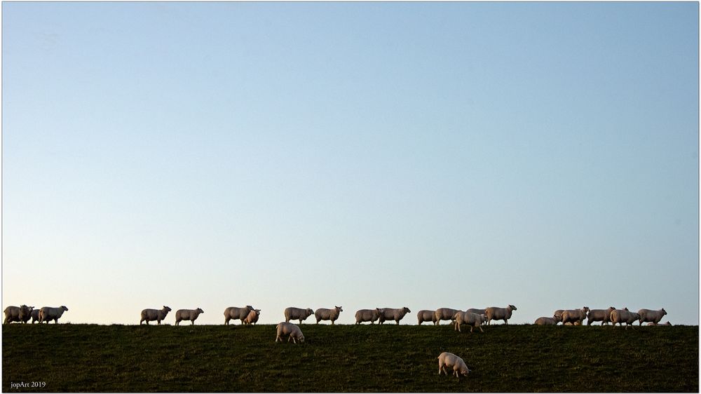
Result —
<path fill-rule="evenodd" d="M 294 345 L 275 344 L 274 325 L 4 325 L 2 390 L 699 390 L 697 326 L 496 325 L 473 334 L 447 324 L 301 329 L 306 342 Z M 472 373 L 460 381 L 438 376 L 442 351 L 460 355 Z"/>

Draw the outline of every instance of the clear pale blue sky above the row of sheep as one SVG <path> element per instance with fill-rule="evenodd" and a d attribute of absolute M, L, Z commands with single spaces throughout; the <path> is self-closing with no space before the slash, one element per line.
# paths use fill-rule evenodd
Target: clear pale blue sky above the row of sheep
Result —
<path fill-rule="evenodd" d="M 697 325 L 698 7 L 3 2 L 3 308 Z"/>

